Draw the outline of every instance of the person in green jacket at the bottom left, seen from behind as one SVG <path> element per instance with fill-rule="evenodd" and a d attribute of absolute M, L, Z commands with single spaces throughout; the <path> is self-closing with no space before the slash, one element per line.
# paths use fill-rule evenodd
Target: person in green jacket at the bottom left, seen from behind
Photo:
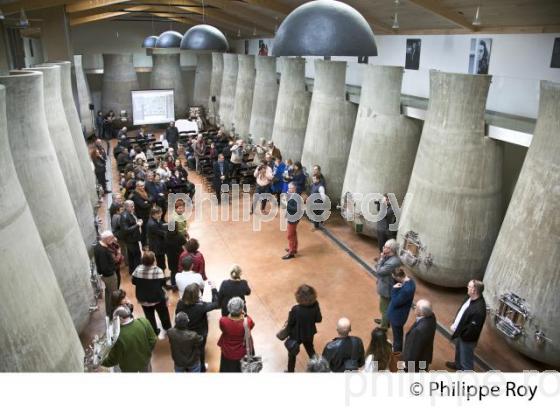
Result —
<path fill-rule="evenodd" d="M 150 322 L 143 317 L 134 319 L 126 306 L 118 307 L 113 313 L 113 318 L 120 320 L 121 330 L 102 365 L 118 365 L 122 372 L 151 372 L 152 350 L 156 345 L 157 336 Z"/>

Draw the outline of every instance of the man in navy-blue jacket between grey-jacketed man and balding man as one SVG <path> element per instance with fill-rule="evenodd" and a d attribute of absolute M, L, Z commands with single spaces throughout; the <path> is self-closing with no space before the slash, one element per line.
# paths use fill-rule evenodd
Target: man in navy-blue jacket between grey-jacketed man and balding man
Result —
<path fill-rule="evenodd" d="M 393 352 L 402 352 L 403 328 L 414 300 L 416 283 L 402 269 L 393 273 L 393 280 L 396 283 L 391 290 L 387 318 L 393 329 Z"/>

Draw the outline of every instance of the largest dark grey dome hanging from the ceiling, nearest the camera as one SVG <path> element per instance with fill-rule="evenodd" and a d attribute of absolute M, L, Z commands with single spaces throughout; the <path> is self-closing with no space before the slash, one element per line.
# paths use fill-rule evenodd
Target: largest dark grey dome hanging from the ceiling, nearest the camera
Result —
<path fill-rule="evenodd" d="M 373 30 L 348 4 L 316 0 L 292 11 L 278 28 L 275 56 L 376 56 Z"/>

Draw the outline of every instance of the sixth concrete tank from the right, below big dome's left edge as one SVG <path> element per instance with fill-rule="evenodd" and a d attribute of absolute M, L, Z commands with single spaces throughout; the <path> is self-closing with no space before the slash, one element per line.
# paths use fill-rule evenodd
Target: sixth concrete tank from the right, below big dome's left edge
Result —
<path fill-rule="evenodd" d="M 261 138 L 272 139 L 276 101 L 278 100 L 278 78 L 275 57 L 255 57 L 257 76 L 253 93 L 253 108 L 249 133 L 258 143 Z"/>

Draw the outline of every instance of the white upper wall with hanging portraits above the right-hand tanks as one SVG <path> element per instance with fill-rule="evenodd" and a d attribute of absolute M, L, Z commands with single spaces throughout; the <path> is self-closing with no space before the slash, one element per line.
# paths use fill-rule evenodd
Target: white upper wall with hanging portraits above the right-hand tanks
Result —
<path fill-rule="evenodd" d="M 404 66 L 407 38 L 422 40 L 420 69 L 406 70 L 403 94 L 429 97 L 429 70 L 467 73 L 470 40 L 473 35 L 377 36 L 378 56 L 370 64 Z M 492 38 L 489 74 L 493 76 L 486 108 L 488 110 L 536 118 L 539 81 L 560 82 L 560 69 L 550 68 L 554 39 L 552 34 L 484 34 Z M 272 51 L 272 39 L 265 39 Z M 234 41 L 235 52 L 244 52 L 243 40 Z M 249 41 L 249 53 L 256 54 L 258 40 Z M 314 77 L 313 57 L 307 57 L 306 76 Z M 361 85 L 361 64 L 355 57 L 333 57 L 348 61 L 346 82 Z"/>

